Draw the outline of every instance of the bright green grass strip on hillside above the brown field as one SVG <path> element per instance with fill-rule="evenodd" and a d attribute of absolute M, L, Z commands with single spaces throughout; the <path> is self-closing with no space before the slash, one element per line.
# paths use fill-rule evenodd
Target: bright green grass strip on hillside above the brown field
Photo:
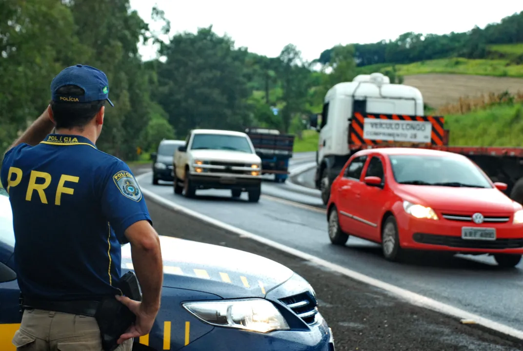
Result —
<path fill-rule="evenodd" d="M 514 49 L 515 50 L 515 49 Z M 523 65 L 511 65 L 509 60 L 469 60 L 455 57 L 452 59 L 430 60 L 395 65 L 402 76 L 427 73 L 469 74 L 495 77 L 523 77 Z M 360 73 L 381 72 L 392 65 L 370 65 L 358 68 Z"/>

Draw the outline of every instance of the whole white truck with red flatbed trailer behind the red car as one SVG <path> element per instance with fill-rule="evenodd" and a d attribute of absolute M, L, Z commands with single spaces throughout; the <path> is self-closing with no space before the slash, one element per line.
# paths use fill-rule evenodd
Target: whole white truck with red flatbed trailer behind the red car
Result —
<path fill-rule="evenodd" d="M 338 83 L 325 95 L 320 119 L 315 185 L 324 204 L 331 184 L 358 150 L 377 147 L 423 147 L 462 154 L 493 182 L 507 184 L 505 193 L 523 204 L 523 148 L 449 146 L 444 116 L 426 116 L 422 93 L 413 86 L 391 84 L 381 73 L 359 75 Z"/>

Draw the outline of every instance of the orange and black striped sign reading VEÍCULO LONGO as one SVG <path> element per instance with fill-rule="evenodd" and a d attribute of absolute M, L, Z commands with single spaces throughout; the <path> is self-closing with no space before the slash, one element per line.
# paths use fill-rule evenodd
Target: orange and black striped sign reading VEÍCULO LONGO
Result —
<path fill-rule="evenodd" d="M 350 123 L 349 144 L 412 143 L 443 145 L 444 118 L 356 112 Z"/>

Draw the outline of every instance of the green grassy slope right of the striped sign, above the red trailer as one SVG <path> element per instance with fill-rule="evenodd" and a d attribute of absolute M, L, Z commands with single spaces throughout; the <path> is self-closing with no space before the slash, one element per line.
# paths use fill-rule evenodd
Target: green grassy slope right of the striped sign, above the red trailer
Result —
<path fill-rule="evenodd" d="M 452 146 L 523 147 L 523 104 L 446 115 L 445 128 Z"/>

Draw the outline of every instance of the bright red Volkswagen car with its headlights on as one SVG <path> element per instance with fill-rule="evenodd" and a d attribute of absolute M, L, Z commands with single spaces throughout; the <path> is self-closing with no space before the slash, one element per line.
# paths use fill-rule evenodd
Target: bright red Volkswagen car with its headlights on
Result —
<path fill-rule="evenodd" d="M 469 158 L 417 148 L 358 151 L 331 188 L 329 238 L 381 243 L 399 260 L 405 250 L 491 254 L 514 267 L 523 254 L 523 207 Z"/>

